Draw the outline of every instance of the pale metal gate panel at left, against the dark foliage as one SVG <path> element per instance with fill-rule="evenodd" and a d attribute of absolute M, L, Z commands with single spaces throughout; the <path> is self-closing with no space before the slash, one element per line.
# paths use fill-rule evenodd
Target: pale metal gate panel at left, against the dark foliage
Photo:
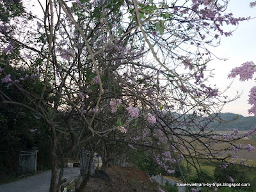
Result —
<path fill-rule="evenodd" d="M 20 150 L 19 177 L 36 173 L 36 152 Z"/>

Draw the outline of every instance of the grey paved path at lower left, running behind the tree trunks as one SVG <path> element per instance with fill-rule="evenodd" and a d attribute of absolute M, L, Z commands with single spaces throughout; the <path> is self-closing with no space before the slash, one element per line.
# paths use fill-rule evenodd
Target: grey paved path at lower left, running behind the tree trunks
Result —
<path fill-rule="evenodd" d="M 80 175 L 80 168 L 65 168 L 63 178 L 70 182 L 72 179 L 76 179 Z M 48 192 L 51 183 L 51 171 L 40 173 L 28 177 L 26 179 L 20 179 L 9 184 L 0 185 L 0 191 L 2 192 Z"/>

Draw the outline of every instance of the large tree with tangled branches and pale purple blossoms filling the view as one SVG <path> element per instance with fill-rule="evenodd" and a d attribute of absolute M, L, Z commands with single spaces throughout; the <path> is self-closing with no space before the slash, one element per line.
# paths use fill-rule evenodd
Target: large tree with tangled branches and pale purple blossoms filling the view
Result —
<path fill-rule="evenodd" d="M 49 125 L 50 191 L 60 189 L 58 164 L 76 147 L 101 150 L 106 159 L 118 143 L 155 148 L 156 162 L 168 173 L 183 160 L 195 167 L 195 159 L 224 164 L 237 150 L 253 150 L 234 145 L 236 130 L 205 132 L 212 113 L 230 101 L 208 81 L 212 53 L 207 48 L 232 35 L 224 25 L 248 19 L 226 13 L 227 2 L 38 3 L 42 18 L 24 9 L 26 3 L 0 1 L 1 8 L 12 9 L 0 26 L 0 96 L 1 104 L 27 108 Z M 41 85 L 36 93 L 35 84 Z M 8 88 L 24 99 L 6 95 Z M 214 148 L 223 142 L 227 148 Z M 235 154 L 220 157 L 228 150 Z"/>

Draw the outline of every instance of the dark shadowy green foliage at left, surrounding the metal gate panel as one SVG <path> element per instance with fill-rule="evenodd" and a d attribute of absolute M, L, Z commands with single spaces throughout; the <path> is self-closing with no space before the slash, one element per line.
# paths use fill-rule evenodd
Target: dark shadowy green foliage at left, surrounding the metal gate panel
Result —
<path fill-rule="evenodd" d="M 30 92 L 34 97 L 40 96 L 43 88 L 40 79 L 31 77 L 31 73 L 26 70 L 19 70 L 8 66 L 0 66 L 4 68 L 4 73 L 10 74 L 13 79 L 19 79 L 28 75 L 22 84 L 24 90 Z M 0 78 L 5 75 L 2 72 Z M 24 94 L 17 92 L 15 86 L 7 86 L 0 83 L 1 91 L 8 95 L 8 99 L 13 102 L 19 102 L 24 105 L 31 105 Z M 49 87 L 46 88 L 48 90 Z M 51 98 L 49 98 L 49 101 Z M 4 154 L 0 155 L 0 169 L 3 173 L 17 172 L 19 165 L 19 150 L 29 150 L 37 147 L 38 152 L 38 169 L 49 168 L 51 165 L 51 132 L 47 123 L 40 114 L 30 111 L 28 108 L 15 104 L 0 103 L 0 151 Z M 31 131 L 33 130 L 33 131 Z"/>

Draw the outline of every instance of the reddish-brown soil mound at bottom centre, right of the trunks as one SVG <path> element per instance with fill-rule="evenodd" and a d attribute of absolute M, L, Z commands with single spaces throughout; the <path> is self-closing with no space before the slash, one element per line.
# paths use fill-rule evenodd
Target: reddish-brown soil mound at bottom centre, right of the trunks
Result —
<path fill-rule="evenodd" d="M 134 167 L 115 167 L 112 166 L 106 169 L 111 181 L 106 182 L 106 180 L 100 178 L 90 178 L 87 186 L 86 192 L 153 192 L 159 191 L 157 189 L 158 184 L 149 180 L 148 175 Z M 84 191 L 84 192 L 85 192 Z"/>

